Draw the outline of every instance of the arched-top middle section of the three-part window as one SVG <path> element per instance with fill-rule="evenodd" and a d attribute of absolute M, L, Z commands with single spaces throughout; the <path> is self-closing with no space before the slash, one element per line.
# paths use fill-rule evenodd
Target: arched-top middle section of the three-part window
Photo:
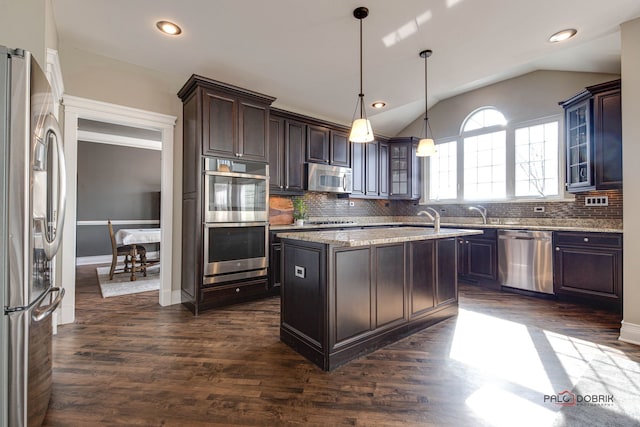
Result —
<path fill-rule="evenodd" d="M 506 197 L 506 124 L 491 107 L 474 111 L 462 124 L 464 199 Z"/>

